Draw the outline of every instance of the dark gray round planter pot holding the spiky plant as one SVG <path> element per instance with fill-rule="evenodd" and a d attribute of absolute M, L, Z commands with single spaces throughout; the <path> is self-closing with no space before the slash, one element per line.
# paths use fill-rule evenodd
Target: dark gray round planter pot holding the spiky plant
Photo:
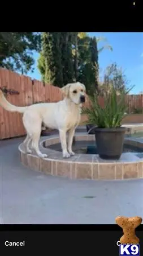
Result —
<path fill-rule="evenodd" d="M 118 160 L 123 152 L 125 127 L 96 128 L 96 144 L 99 157 L 102 159 Z"/>

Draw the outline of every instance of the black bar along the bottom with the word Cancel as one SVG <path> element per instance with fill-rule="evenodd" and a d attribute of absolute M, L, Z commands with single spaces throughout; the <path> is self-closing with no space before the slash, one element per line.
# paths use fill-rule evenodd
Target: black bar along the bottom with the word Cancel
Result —
<path fill-rule="evenodd" d="M 143 255 L 142 231 L 140 225 L 136 230 L 140 255 Z M 118 225 L 0 225 L 0 249 L 5 256 L 116 256 L 119 255 L 116 242 L 121 236 L 123 231 Z M 8 242 L 23 241 L 24 246 L 6 246 Z"/>

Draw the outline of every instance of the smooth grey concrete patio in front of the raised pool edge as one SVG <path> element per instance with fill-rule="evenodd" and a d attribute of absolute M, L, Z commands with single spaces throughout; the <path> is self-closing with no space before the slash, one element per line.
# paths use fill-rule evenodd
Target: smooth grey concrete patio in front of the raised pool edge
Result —
<path fill-rule="evenodd" d="M 70 180 L 28 170 L 20 163 L 24 138 L 0 141 L 1 224 L 114 224 L 143 216 L 143 179 Z"/>

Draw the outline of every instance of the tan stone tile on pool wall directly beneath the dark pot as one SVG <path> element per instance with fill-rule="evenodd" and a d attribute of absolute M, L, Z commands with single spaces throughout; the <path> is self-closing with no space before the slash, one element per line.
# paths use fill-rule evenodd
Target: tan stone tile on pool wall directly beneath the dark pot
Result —
<path fill-rule="evenodd" d="M 115 164 L 99 163 L 99 179 L 114 180 L 115 179 Z"/>

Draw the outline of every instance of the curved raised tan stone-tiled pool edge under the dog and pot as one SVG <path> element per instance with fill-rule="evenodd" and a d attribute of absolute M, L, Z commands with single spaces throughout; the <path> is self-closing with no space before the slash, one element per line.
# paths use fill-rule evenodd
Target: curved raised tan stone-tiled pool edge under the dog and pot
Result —
<path fill-rule="evenodd" d="M 85 133 L 76 133 L 76 141 L 93 141 L 94 135 Z M 143 146 L 142 142 L 130 141 L 129 143 Z M 54 176 L 64 176 L 70 179 L 92 179 L 92 180 L 123 180 L 123 179 L 140 179 L 143 177 L 143 159 L 137 158 L 135 153 L 131 154 L 132 160 L 102 160 L 98 155 L 76 154 L 68 159 L 62 158 L 62 153 L 59 151 L 45 148 L 51 144 L 59 143 L 58 135 L 41 138 L 40 150 L 45 152 L 48 157 L 45 159 L 38 158 L 37 155 L 26 154 L 24 152 L 23 143 L 19 145 L 21 163 L 32 170 L 40 171 L 45 174 Z"/>

